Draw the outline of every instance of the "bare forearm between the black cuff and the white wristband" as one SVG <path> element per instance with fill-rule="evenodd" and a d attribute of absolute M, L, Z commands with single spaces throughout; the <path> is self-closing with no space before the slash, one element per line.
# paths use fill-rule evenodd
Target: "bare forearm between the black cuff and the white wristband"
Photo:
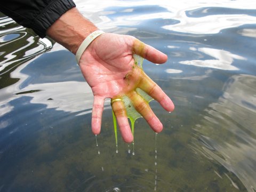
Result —
<path fill-rule="evenodd" d="M 76 54 L 79 45 L 93 31 L 98 30 L 76 8 L 68 10 L 47 29 L 46 35 Z"/>

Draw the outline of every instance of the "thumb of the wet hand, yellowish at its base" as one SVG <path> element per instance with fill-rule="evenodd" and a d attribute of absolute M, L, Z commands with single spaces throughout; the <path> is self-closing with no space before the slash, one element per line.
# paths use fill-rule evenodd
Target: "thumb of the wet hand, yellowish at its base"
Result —
<path fill-rule="evenodd" d="M 147 45 L 139 41 L 139 39 L 135 39 L 133 42 L 133 52 L 153 63 L 161 64 L 167 61 L 166 54 L 162 53 L 161 51 L 158 51 L 150 45 Z"/>

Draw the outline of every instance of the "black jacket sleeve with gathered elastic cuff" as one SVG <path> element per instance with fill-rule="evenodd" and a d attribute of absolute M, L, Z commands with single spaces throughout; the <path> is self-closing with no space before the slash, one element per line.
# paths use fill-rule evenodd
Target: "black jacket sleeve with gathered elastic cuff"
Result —
<path fill-rule="evenodd" d="M 1 0 L 0 11 L 23 27 L 31 28 L 39 37 L 60 16 L 75 7 L 73 0 Z"/>

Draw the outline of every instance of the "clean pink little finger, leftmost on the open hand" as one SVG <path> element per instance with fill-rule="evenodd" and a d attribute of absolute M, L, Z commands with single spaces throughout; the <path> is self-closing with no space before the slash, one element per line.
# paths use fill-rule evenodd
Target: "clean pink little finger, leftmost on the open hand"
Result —
<path fill-rule="evenodd" d="M 92 132 L 93 134 L 100 133 L 101 117 L 104 107 L 104 98 L 94 96 L 92 106 Z"/>

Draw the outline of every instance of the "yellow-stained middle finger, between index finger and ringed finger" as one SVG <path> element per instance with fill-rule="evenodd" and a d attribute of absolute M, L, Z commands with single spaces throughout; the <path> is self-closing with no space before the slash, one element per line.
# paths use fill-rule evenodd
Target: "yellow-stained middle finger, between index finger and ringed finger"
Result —
<path fill-rule="evenodd" d="M 136 91 L 128 94 L 134 108 L 146 119 L 150 127 L 157 133 L 163 130 L 163 124 L 156 117 L 147 101 L 145 101 Z"/>

